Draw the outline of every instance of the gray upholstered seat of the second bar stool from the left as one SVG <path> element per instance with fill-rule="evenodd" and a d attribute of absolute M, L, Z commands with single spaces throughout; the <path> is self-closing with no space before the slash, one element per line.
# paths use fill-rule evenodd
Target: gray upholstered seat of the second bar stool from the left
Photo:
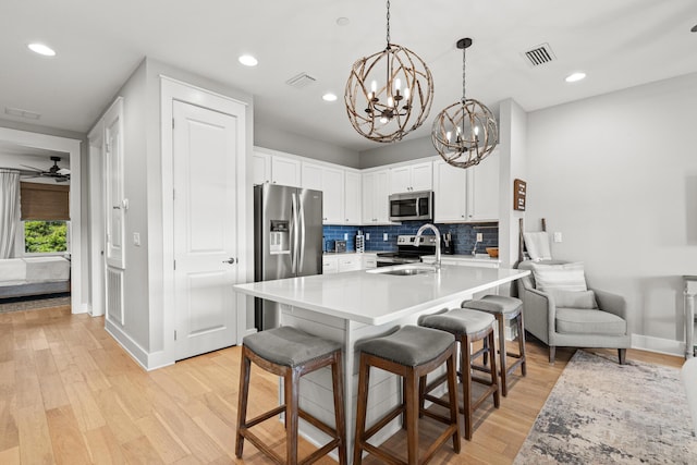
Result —
<path fill-rule="evenodd" d="M 454 342 L 455 338 L 444 331 L 405 326 L 388 335 L 358 341 L 356 348 L 400 365 L 416 367 L 437 358 Z"/>

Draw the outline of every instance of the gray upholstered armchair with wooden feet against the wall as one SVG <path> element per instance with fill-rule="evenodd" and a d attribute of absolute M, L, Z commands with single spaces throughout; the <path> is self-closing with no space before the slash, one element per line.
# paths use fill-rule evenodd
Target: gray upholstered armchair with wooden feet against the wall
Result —
<path fill-rule="evenodd" d="M 518 264 L 518 269 L 530 270 L 530 274 L 517 281 L 518 297 L 523 301 L 525 329 L 549 345 L 549 363 L 554 363 L 557 346 L 617 348 L 620 364 L 624 365 L 629 346 L 624 297 L 609 292 L 592 290 L 592 305 L 584 303 L 555 302 L 552 293 L 536 289 L 533 273 L 534 261 Z M 545 260 L 537 264 L 561 265 L 565 261 Z M 583 295 L 580 293 L 579 295 Z M 592 294 L 590 299 L 592 299 Z"/>

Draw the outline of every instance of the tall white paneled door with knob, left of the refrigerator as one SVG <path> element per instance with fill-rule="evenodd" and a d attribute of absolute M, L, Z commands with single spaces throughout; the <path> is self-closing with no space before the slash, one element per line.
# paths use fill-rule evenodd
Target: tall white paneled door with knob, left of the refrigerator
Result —
<path fill-rule="evenodd" d="M 244 113 L 243 113 L 244 114 Z M 236 115 L 173 102 L 176 359 L 236 341 Z"/>

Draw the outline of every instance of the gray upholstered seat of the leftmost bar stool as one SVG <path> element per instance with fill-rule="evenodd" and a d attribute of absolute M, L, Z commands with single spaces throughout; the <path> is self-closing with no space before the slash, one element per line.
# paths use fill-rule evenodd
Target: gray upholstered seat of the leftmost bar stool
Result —
<path fill-rule="evenodd" d="M 280 327 L 246 335 L 242 343 L 258 356 L 288 367 L 296 367 L 330 354 L 342 344 L 292 327 Z"/>

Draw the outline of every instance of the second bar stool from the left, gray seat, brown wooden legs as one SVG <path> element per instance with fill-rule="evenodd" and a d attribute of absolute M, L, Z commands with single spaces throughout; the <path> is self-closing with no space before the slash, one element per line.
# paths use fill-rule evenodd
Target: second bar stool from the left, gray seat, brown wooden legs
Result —
<path fill-rule="evenodd" d="M 405 414 L 403 427 L 407 431 L 408 464 L 424 464 L 428 462 L 438 449 L 452 437 L 453 449 L 460 453 L 460 425 L 457 424 L 457 388 L 455 367 L 455 339 L 452 334 L 429 328 L 405 326 L 391 334 L 358 342 L 356 348 L 360 352 L 358 368 L 358 401 L 356 415 L 356 436 L 353 463 L 359 465 L 363 452 L 377 456 L 387 463 L 405 463 L 381 448 L 367 441 L 380 429 L 400 414 Z M 431 412 L 425 412 L 420 406 L 419 381 L 425 381 L 426 375 L 447 364 L 447 379 L 449 393 L 450 417 L 443 417 Z M 366 430 L 366 409 L 368 404 L 368 386 L 370 367 L 383 369 L 399 375 L 403 380 L 402 404 L 394 407 Z M 418 419 L 420 414 L 428 415 L 448 425 L 448 428 L 429 445 L 424 457 L 418 457 Z"/>

